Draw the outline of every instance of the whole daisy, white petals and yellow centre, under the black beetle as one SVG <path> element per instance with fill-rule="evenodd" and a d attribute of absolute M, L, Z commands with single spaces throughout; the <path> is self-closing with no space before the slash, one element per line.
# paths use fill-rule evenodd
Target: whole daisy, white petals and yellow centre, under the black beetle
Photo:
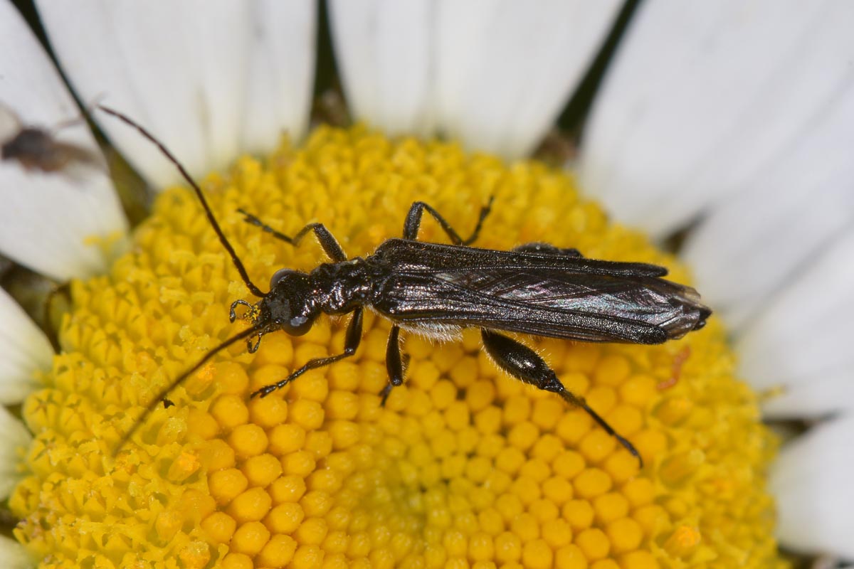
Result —
<path fill-rule="evenodd" d="M 682 258 L 719 318 L 660 346 L 530 340 L 643 468 L 587 415 L 502 377 L 477 335 L 408 337 L 407 384 L 381 407 L 389 328 L 374 316 L 355 357 L 268 398 L 247 396 L 340 352 L 346 322 L 231 346 L 116 452 L 162 386 L 245 327 L 228 306 L 247 291 L 173 165 L 93 113 L 160 194 L 131 230 L 102 169 L 0 168 L 0 251 L 69 282 L 71 299 L 54 355 L 0 293 L 0 496 L 20 520 L 4 566 L 785 566 L 775 531 L 791 549 L 854 557 L 847 3 L 642 3 L 577 182 L 524 157 L 616 2 L 332 0 L 336 65 L 363 121 L 346 129 L 309 129 L 314 3 L 37 6 L 79 101 L 120 109 L 178 156 L 254 282 L 321 252 L 274 241 L 238 208 L 291 235 L 320 221 L 352 257 L 400 235 L 414 200 L 465 231 L 494 196 L 481 247 L 549 241 L 664 264 L 677 282 L 686 267 L 639 229 L 690 228 Z M 6 1 L 0 85 L 24 125 L 80 115 Z M 83 124 L 56 136 L 100 152 Z M 442 235 L 425 221 L 420 238 Z M 834 418 L 771 466 L 757 392 L 769 418 Z"/>

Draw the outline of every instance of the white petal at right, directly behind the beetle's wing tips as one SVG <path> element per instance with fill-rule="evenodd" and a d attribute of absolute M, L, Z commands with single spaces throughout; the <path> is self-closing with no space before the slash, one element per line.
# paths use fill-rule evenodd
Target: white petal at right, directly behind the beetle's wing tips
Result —
<path fill-rule="evenodd" d="M 841 95 L 816 116 L 809 136 L 689 235 L 684 256 L 699 290 L 732 328 L 854 226 L 854 81 Z"/>

